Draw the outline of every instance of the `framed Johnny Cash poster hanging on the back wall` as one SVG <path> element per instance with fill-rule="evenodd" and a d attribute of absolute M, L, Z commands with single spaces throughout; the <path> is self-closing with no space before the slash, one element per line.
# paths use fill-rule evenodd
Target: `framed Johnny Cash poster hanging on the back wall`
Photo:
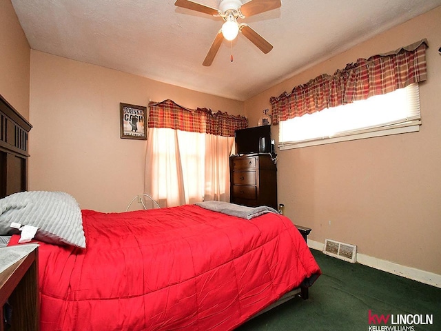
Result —
<path fill-rule="evenodd" d="M 121 138 L 147 139 L 147 107 L 119 103 Z"/>

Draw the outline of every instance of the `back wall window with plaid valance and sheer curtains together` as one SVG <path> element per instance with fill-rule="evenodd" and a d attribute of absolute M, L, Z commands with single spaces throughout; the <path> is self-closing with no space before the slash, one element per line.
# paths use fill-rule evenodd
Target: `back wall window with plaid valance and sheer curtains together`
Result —
<path fill-rule="evenodd" d="M 189 110 L 167 99 L 150 103 L 145 193 L 161 207 L 229 201 L 234 131 L 247 119 L 207 108 Z"/>

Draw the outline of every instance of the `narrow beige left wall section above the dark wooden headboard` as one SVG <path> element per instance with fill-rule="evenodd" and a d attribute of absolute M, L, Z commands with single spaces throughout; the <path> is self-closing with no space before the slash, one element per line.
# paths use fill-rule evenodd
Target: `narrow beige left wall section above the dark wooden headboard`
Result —
<path fill-rule="evenodd" d="M 29 119 L 30 47 L 10 0 L 0 0 L 0 94 Z"/>

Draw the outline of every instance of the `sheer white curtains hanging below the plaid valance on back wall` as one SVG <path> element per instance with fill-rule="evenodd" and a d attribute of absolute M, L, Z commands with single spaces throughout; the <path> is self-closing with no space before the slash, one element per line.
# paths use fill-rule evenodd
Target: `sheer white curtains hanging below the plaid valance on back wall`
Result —
<path fill-rule="evenodd" d="M 233 142 L 234 137 L 149 128 L 145 193 L 161 207 L 203 199 L 229 201 L 229 155 Z"/>

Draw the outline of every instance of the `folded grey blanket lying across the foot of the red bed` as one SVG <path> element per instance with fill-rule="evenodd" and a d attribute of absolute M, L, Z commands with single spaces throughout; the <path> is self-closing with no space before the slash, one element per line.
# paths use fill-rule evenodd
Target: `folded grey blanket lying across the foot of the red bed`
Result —
<path fill-rule="evenodd" d="M 247 207 L 245 205 L 236 205 L 234 203 L 224 202 L 224 201 L 203 201 L 195 203 L 199 207 L 212 210 L 214 212 L 222 212 L 230 216 L 240 217 L 242 219 L 252 219 L 260 215 L 266 214 L 267 212 L 278 212 L 267 205 L 260 205 L 258 207 Z"/>

